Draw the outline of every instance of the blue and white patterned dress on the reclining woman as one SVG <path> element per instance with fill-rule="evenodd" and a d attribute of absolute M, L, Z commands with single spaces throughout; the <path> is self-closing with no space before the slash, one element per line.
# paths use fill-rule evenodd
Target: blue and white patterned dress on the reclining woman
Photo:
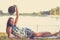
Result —
<path fill-rule="evenodd" d="M 17 35 L 17 36 L 26 36 L 26 37 L 30 37 L 32 36 L 33 31 L 29 28 L 22 28 L 19 29 L 18 27 L 13 27 L 13 35 Z"/>

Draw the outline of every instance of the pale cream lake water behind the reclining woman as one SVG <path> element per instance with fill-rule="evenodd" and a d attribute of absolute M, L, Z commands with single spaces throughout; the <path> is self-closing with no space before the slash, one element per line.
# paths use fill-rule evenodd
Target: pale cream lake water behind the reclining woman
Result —
<path fill-rule="evenodd" d="M 6 32 L 6 23 L 10 16 L 0 16 L 0 32 Z M 15 18 L 15 16 L 12 16 Z M 58 32 L 60 30 L 60 17 L 19 16 L 19 28 L 28 27 L 35 32 Z"/>

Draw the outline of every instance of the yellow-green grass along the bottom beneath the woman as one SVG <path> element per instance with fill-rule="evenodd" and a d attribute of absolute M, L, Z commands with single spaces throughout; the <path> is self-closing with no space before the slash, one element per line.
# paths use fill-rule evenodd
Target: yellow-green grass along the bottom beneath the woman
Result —
<path fill-rule="evenodd" d="M 22 37 L 20 39 L 16 39 L 16 38 L 8 38 L 6 33 L 0 33 L 0 40 L 29 40 L 26 37 Z M 34 39 L 34 40 L 60 40 L 60 38 L 58 39 L 49 39 L 49 38 L 43 38 L 43 39 Z"/>

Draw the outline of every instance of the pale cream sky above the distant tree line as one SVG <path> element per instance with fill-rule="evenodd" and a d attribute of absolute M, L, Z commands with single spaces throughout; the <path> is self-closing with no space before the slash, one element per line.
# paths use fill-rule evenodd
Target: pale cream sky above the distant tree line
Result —
<path fill-rule="evenodd" d="M 12 5 L 17 5 L 19 13 L 32 13 L 60 7 L 60 0 L 0 0 L 0 10 L 5 13 Z"/>

